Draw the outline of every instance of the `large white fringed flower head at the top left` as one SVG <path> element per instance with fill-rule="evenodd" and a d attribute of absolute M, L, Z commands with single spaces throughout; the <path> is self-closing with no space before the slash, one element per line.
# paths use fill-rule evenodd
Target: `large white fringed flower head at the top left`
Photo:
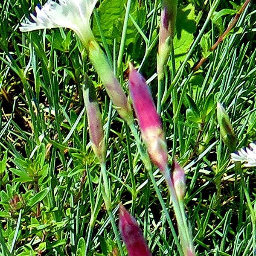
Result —
<path fill-rule="evenodd" d="M 28 32 L 37 29 L 69 28 L 79 36 L 82 42 L 93 38 L 90 29 L 90 16 L 97 0 L 48 0 L 40 9 L 35 7 L 31 18 L 21 22 L 20 31 Z"/>

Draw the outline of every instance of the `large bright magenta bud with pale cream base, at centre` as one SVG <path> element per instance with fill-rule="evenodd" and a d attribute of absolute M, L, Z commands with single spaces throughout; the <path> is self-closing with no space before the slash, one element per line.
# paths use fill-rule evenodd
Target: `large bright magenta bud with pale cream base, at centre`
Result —
<path fill-rule="evenodd" d="M 164 171 L 167 168 L 167 146 L 161 119 L 145 79 L 132 64 L 130 64 L 129 90 L 150 158 L 161 171 Z"/>

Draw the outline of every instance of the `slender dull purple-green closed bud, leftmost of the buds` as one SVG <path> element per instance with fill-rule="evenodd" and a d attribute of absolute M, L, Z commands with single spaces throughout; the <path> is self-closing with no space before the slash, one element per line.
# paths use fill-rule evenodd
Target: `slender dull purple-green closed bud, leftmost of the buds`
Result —
<path fill-rule="evenodd" d="M 104 163 L 106 148 L 102 116 L 99 110 L 99 103 L 96 99 L 95 88 L 87 75 L 84 78 L 84 89 L 84 104 L 89 125 L 91 146 L 99 161 Z"/>

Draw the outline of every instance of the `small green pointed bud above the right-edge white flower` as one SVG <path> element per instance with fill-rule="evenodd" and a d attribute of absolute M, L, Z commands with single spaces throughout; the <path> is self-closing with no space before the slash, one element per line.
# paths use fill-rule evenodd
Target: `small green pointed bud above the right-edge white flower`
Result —
<path fill-rule="evenodd" d="M 217 103 L 217 120 L 221 130 L 221 137 L 230 151 L 236 150 L 236 135 L 231 125 L 229 116 L 223 106 Z"/>

